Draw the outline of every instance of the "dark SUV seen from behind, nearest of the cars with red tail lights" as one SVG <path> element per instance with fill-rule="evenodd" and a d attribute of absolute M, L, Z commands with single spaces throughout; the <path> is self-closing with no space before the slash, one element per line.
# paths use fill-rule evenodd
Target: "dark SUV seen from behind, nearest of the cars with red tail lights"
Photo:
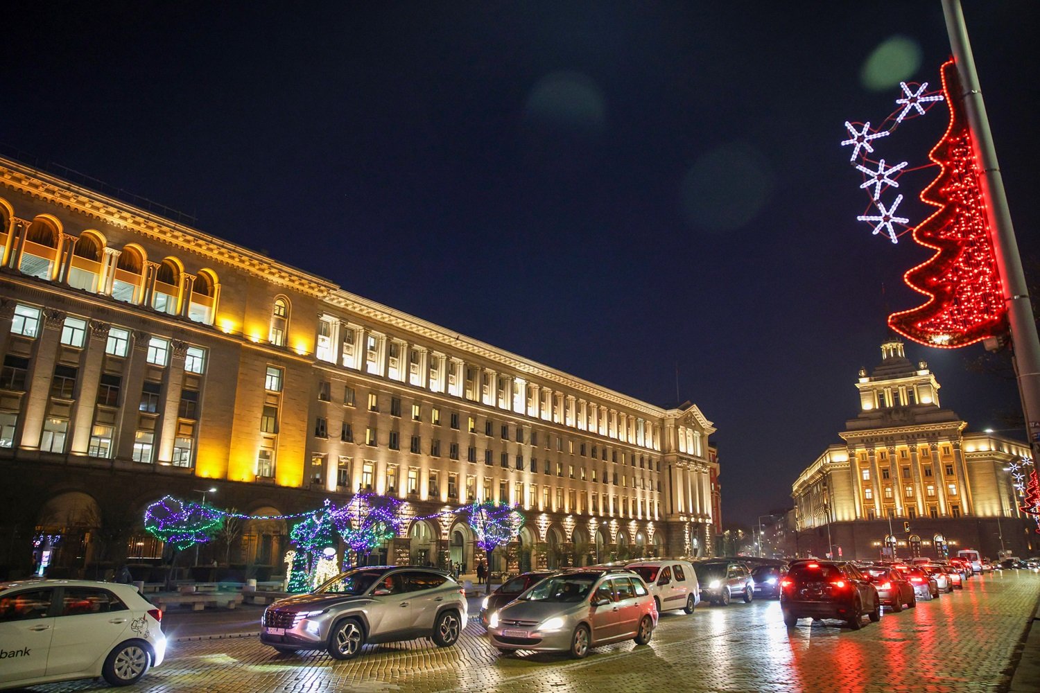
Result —
<path fill-rule="evenodd" d="M 863 624 L 863 614 L 881 619 L 878 590 L 851 563 L 797 561 L 780 583 L 783 622 L 794 628 L 799 618 L 836 618 L 854 631 Z"/>

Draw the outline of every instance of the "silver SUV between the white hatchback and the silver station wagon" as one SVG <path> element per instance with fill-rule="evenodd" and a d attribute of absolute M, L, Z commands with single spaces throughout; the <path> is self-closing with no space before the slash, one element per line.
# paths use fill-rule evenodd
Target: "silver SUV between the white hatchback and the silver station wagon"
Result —
<path fill-rule="evenodd" d="M 434 568 L 367 566 L 342 572 L 309 594 L 275 602 L 263 613 L 260 642 L 280 652 L 328 649 L 357 657 L 366 642 L 428 637 L 454 644 L 466 624 L 466 595 Z"/>

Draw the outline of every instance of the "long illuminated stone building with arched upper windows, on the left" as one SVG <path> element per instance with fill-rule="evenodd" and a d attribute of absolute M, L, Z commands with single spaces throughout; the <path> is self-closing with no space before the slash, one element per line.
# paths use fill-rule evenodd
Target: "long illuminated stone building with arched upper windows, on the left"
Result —
<path fill-rule="evenodd" d="M 139 518 L 204 491 L 257 516 L 359 488 L 414 515 L 519 504 L 498 569 L 710 551 L 714 428 L 696 405 L 640 401 L 8 160 L 0 244 L 0 463 L 23 517 L 0 526 L 62 536 L 59 564 L 97 558 L 113 508 Z M 236 555 L 283 572 L 288 529 L 249 521 Z M 371 560 L 474 556 L 459 516 L 406 523 Z"/>

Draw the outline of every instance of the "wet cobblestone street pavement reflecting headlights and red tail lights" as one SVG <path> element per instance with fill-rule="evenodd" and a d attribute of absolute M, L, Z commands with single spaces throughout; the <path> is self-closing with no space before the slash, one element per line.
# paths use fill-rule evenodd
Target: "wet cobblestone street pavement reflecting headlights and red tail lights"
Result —
<path fill-rule="evenodd" d="M 668 613 L 648 646 L 631 642 L 563 656 L 502 657 L 471 622 L 454 647 L 426 640 L 366 647 L 356 660 L 284 656 L 256 638 L 180 642 L 133 689 L 177 693 L 321 691 L 1004 691 L 1012 654 L 1040 598 L 1040 576 L 974 578 L 963 591 L 885 612 L 861 631 L 800 621 L 775 601 Z M 103 682 L 38 693 L 104 690 Z"/>

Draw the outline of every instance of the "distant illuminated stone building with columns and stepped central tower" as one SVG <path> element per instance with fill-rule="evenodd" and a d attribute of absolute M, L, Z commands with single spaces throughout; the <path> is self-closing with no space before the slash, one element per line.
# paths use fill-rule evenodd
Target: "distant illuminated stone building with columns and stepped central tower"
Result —
<path fill-rule="evenodd" d="M 860 370 L 860 412 L 792 486 L 803 555 L 941 556 L 974 548 L 1032 553 L 1008 464 L 1022 443 L 967 423 L 939 405 L 939 383 L 903 343 L 881 345 Z M 909 528 L 909 531 L 906 531 Z"/>

